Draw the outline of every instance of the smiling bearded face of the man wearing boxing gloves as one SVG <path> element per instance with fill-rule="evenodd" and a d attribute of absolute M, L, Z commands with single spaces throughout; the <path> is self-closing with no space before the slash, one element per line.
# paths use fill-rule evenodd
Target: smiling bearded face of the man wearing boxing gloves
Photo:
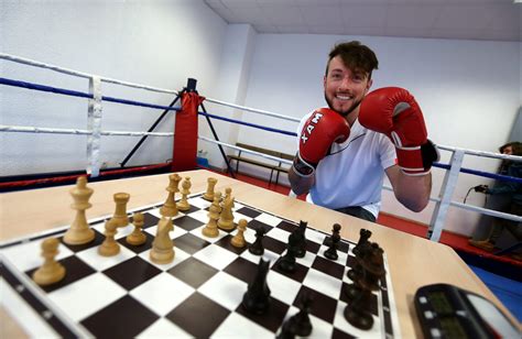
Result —
<path fill-rule="evenodd" d="M 339 55 L 335 56 L 324 78 L 326 102 L 330 109 L 346 117 L 359 107 L 371 84 L 368 74 L 352 72 Z"/>

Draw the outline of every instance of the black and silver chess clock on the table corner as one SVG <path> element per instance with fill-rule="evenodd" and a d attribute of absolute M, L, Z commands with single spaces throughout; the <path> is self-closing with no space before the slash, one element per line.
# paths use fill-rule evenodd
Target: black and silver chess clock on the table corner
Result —
<path fill-rule="evenodd" d="M 457 286 L 423 286 L 414 302 L 425 338 L 520 338 L 518 327 L 494 304 Z"/>

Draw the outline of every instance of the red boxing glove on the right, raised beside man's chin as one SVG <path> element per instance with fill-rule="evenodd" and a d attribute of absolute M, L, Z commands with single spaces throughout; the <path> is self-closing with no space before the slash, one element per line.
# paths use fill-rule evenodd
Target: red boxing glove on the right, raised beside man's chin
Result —
<path fill-rule="evenodd" d="M 438 161 L 438 151 L 427 139 L 421 108 L 404 88 L 384 87 L 368 94 L 361 102 L 359 122 L 391 139 L 399 166 L 407 175 L 426 174 Z"/>

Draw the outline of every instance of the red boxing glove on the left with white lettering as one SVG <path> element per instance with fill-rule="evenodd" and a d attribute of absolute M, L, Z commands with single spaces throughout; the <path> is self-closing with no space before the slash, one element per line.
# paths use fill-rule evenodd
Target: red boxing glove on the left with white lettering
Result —
<path fill-rule="evenodd" d="M 319 108 L 306 120 L 300 135 L 300 151 L 294 158 L 294 170 L 302 176 L 314 173 L 334 142 L 341 143 L 350 135 L 350 125 L 334 110 Z"/>

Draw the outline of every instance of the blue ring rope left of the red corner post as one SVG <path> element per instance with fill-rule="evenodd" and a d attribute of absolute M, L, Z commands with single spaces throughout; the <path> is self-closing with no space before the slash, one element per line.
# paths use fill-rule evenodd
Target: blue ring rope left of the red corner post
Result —
<path fill-rule="evenodd" d="M 88 92 L 70 90 L 70 89 L 65 89 L 65 88 L 58 88 L 58 87 L 52 87 L 52 86 L 45 86 L 45 85 L 39 85 L 39 84 L 32 84 L 32 83 L 20 81 L 20 80 L 12 80 L 12 79 L 1 78 L 1 77 L 0 77 L 0 85 L 21 87 L 21 88 L 26 88 L 26 89 L 40 90 L 40 91 L 48 91 L 48 92 L 54 92 L 54 94 L 70 96 L 70 97 L 93 99 L 93 95 L 88 94 Z M 146 108 L 163 109 L 163 110 L 170 110 L 170 111 L 180 111 L 181 110 L 180 108 L 175 108 L 175 107 L 168 107 L 168 106 L 162 106 L 162 105 L 155 105 L 155 103 L 146 103 L 146 102 L 140 102 L 140 101 L 133 101 L 133 100 L 127 100 L 127 99 L 120 99 L 120 98 L 112 98 L 112 97 L 101 97 L 101 100 L 109 101 L 109 102 L 131 105 L 131 106 L 140 106 L 140 107 L 146 107 Z"/>

